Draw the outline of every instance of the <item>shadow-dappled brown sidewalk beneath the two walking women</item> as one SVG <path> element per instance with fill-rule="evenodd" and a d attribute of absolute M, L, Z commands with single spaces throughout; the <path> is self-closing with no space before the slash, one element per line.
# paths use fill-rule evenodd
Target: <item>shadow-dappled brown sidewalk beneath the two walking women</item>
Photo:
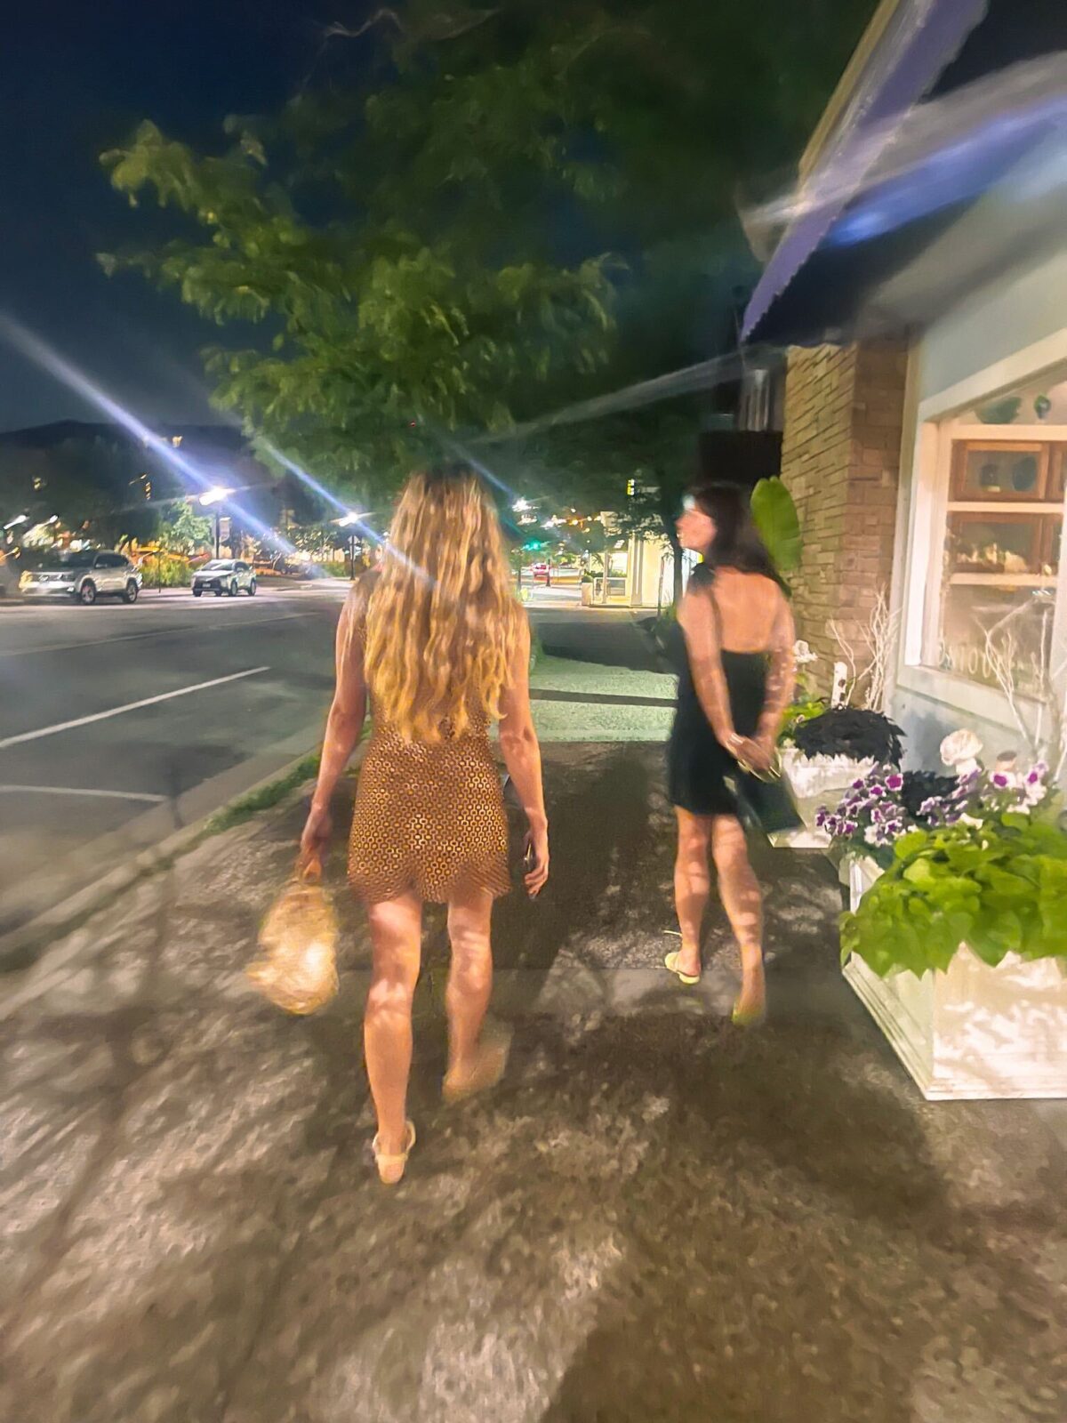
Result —
<path fill-rule="evenodd" d="M 1060 1423 L 1064 1153 L 1037 1114 L 922 1101 L 841 980 L 818 858 L 760 855 L 771 1016 L 733 1030 L 720 915 L 700 990 L 657 969 L 662 747 L 548 746 L 546 783 L 551 888 L 497 916 L 505 1081 L 440 1101 L 434 912 L 391 1192 L 347 895 L 327 1012 L 243 983 L 299 798 L 9 985 L 0 1416 Z"/>

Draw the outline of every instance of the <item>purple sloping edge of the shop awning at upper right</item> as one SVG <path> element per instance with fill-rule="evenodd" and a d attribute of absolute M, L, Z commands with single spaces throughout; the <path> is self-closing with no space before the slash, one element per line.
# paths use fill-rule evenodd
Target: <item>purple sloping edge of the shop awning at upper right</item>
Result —
<path fill-rule="evenodd" d="M 827 202 L 804 212 L 784 233 L 744 314 L 741 340 L 802 340 L 775 323 L 774 307 L 797 273 L 818 252 L 824 238 L 859 189 L 892 139 L 895 117 L 903 117 L 936 83 L 963 41 L 984 17 L 987 0 L 901 0 L 891 24 L 871 55 L 839 137 L 809 175 L 832 165 L 835 181 Z M 881 135 L 875 142 L 871 135 Z M 854 258 L 855 260 L 855 258 Z"/>

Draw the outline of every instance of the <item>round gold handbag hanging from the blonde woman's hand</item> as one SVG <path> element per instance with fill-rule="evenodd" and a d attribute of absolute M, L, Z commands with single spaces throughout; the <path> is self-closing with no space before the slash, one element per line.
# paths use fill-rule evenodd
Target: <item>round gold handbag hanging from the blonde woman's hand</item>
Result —
<path fill-rule="evenodd" d="M 255 988 L 286 1013 L 314 1013 L 337 993 L 337 916 L 312 861 L 267 911 L 262 956 L 248 968 Z"/>

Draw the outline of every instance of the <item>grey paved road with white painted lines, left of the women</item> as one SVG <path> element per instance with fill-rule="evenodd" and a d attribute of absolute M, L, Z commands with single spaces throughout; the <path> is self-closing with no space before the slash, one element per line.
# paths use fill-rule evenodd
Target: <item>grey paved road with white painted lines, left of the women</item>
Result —
<path fill-rule="evenodd" d="M 343 591 L 0 612 L 0 932 L 306 750 Z"/>

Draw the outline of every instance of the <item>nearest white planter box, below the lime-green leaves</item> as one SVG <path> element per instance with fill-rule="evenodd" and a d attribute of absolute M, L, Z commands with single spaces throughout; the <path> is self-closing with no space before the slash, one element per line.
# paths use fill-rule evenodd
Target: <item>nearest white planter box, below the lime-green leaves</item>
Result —
<path fill-rule="evenodd" d="M 874 861 L 849 858 L 852 905 Z M 1009 955 L 992 969 L 962 946 L 947 973 L 879 979 L 852 955 L 845 980 L 923 1097 L 1067 1097 L 1067 976 L 1057 959 Z"/>

